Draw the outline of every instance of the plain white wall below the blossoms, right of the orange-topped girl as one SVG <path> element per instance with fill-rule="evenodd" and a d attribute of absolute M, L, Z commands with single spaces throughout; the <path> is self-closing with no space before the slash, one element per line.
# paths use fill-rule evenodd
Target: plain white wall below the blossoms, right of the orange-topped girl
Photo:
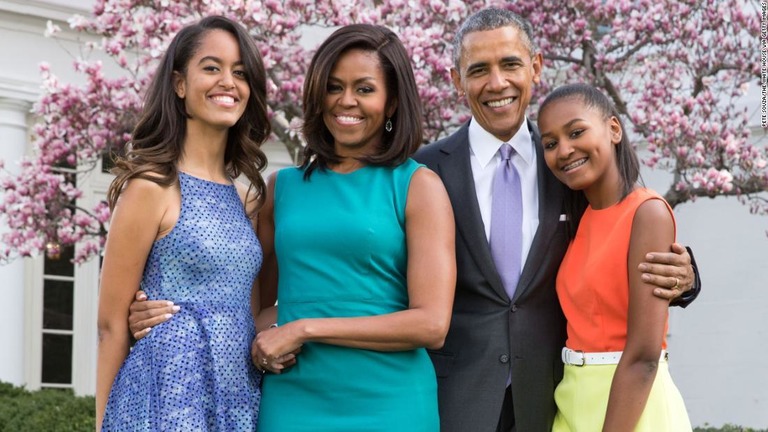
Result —
<path fill-rule="evenodd" d="M 643 176 L 662 193 L 671 180 Z M 691 422 L 768 428 L 768 218 L 732 197 L 698 199 L 675 215 L 703 279 L 693 304 L 670 309 L 670 369 Z"/>

